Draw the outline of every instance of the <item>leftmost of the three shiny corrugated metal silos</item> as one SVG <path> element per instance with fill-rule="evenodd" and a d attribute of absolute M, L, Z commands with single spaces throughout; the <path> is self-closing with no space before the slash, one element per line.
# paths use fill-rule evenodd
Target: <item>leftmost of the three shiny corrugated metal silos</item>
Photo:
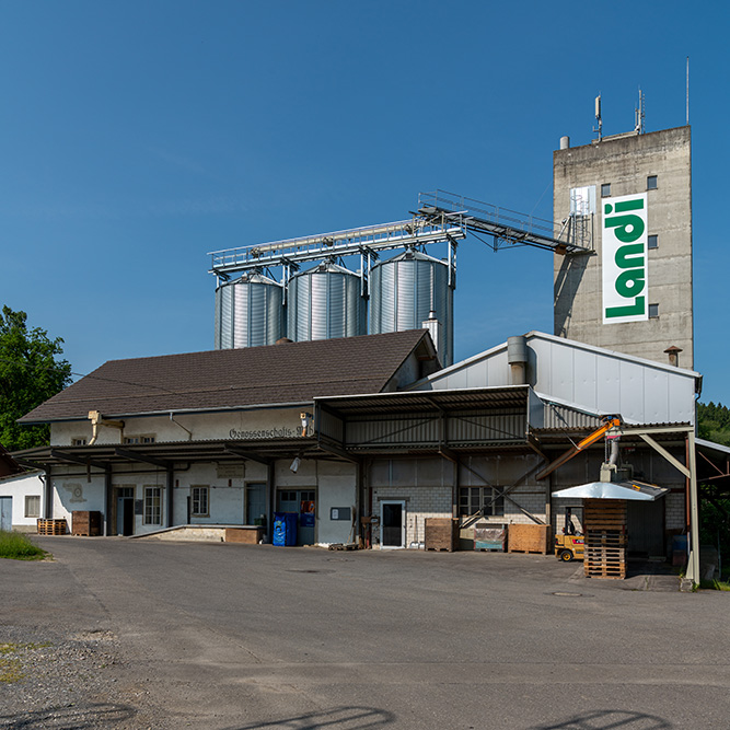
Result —
<path fill-rule="evenodd" d="M 283 334 L 283 287 L 246 273 L 216 290 L 216 348 L 274 345 Z"/>

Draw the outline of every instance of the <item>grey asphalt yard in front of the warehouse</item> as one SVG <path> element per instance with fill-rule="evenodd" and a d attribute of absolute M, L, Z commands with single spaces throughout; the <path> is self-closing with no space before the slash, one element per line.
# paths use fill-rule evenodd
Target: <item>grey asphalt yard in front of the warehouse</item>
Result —
<path fill-rule="evenodd" d="M 0 561 L 0 630 L 113 636 L 119 661 L 66 725 L 0 727 L 729 725 L 727 593 L 538 555 L 38 543 L 54 561 Z"/>

